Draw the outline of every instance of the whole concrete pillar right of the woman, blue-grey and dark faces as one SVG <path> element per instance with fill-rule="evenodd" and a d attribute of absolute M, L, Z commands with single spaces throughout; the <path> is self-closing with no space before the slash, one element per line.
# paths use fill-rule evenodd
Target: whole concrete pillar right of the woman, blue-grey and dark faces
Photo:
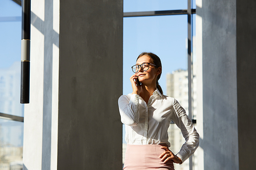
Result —
<path fill-rule="evenodd" d="M 255 7 L 253 0 L 197 1 L 200 169 L 256 166 Z"/>

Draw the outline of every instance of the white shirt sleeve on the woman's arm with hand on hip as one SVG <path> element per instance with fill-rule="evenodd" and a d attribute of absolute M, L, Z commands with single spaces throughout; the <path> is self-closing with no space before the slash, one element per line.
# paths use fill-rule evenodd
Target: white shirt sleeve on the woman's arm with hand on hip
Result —
<path fill-rule="evenodd" d="M 184 162 L 189 156 L 194 154 L 199 145 L 199 134 L 186 114 L 186 111 L 181 107 L 178 101 L 174 100 L 173 122 L 180 128 L 185 143 L 182 145 L 177 156 Z"/>

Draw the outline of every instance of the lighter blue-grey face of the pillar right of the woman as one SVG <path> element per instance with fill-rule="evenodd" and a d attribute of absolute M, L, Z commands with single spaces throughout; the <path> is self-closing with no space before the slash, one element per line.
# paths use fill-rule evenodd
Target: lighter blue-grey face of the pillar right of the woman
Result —
<path fill-rule="evenodd" d="M 204 169 L 239 169 L 236 1 L 203 1 Z"/>

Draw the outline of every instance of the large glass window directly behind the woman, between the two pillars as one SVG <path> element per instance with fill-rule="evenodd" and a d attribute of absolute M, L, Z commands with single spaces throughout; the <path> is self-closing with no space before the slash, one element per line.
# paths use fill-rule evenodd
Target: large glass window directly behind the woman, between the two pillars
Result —
<path fill-rule="evenodd" d="M 123 5 L 124 12 L 142 12 L 187 9 L 187 3 L 188 1 L 183 0 L 124 0 Z M 196 9 L 195 0 L 192 1 L 191 8 Z M 191 35 L 195 40 L 195 15 L 192 15 L 192 19 Z M 159 83 L 163 93 L 176 98 L 188 114 L 187 48 L 187 15 L 124 17 L 123 94 L 132 92 L 130 77 L 133 72 L 131 66 L 136 63 L 137 56 L 142 52 L 152 52 L 158 55 L 162 61 L 162 75 Z M 195 46 L 192 48 L 192 52 L 195 52 Z M 123 126 L 123 152 L 125 152 L 126 145 L 124 129 Z M 171 142 L 170 148 L 178 153 L 181 145 L 185 142 L 180 129 L 175 124 L 170 124 L 168 134 L 169 142 Z M 196 162 L 197 160 L 193 161 Z M 176 165 L 175 169 L 188 170 L 189 160 L 186 160 L 182 165 Z M 196 164 L 194 164 L 194 169 L 197 169 Z"/>

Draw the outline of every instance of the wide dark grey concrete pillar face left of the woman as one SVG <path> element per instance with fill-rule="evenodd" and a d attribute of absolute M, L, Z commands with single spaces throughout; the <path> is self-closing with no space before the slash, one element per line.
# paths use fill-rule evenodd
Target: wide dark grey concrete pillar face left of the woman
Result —
<path fill-rule="evenodd" d="M 58 169 L 122 168 L 122 3 L 60 1 Z"/>

